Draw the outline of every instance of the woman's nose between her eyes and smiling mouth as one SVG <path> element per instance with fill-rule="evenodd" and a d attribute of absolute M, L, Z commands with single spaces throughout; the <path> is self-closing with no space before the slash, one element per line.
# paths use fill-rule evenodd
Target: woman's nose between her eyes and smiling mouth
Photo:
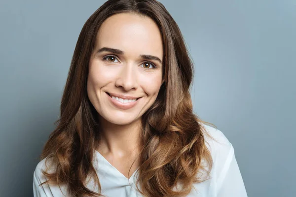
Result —
<path fill-rule="evenodd" d="M 123 88 L 125 91 L 137 89 L 137 71 L 135 65 L 125 64 L 121 67 L 115 81 L 115 86 Z"/>

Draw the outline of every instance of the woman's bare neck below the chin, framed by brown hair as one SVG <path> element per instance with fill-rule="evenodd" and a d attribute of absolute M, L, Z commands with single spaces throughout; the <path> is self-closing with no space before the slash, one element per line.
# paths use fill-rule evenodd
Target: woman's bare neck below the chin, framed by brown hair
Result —
<path fill-rule="evenodd" d="M 98 151 L 104 155 L 128 157 L 140 150 L 141 119 L 128 125 L 116 125 L 101 118 Z"/>

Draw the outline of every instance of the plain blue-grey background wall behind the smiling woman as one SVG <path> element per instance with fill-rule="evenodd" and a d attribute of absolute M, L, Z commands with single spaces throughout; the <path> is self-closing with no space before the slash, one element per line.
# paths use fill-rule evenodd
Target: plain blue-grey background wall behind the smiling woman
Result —
<path fill-rule="evenodd" d="M 0 1 L 0 196 L 32 176 L 78 34 L 103 0 Z M 296 193 L 296 1 L 161 0 L 195 64 L 194 111 L 232 143 L 249 197 Z"/>

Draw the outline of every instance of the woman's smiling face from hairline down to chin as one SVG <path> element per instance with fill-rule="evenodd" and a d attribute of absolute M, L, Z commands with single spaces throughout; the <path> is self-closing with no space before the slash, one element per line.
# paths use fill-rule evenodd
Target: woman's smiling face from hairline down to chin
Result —
<path fill-rule="evenodd" d="M 89 63 L 87 94 L 107 121 L 126 125 L 155 101 L 162 84 L 162 38 L 155 22 L 120 13 L 100 27 Z"/>

